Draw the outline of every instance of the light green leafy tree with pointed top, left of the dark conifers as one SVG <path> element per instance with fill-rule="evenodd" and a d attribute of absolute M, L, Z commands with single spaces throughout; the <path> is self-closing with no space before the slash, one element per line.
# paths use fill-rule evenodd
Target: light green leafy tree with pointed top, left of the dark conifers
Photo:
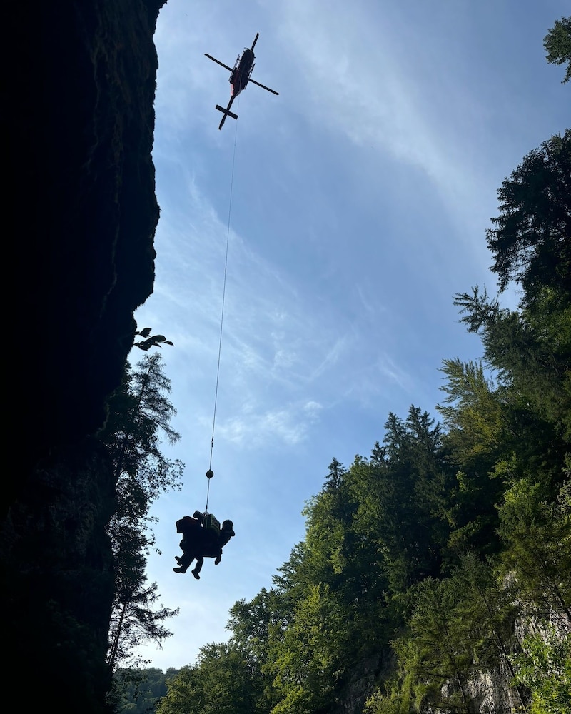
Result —
<path fill-rule="evenodd" d="M 363 560 L 346 473 L 333 459 L 323 489 L 304 510 L 305 541 L 274 578 L 271 618 L 263 618 L 268 636 L 262 668 L 273 714 L 325 710 L 360 646 L 358 636 L 348 638 L 351 627 L 360 631 Z"/>

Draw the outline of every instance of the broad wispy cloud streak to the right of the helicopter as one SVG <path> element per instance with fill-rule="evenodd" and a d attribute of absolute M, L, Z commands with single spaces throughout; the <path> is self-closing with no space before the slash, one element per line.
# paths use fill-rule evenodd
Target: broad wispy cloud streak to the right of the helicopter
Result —
<path fill-rule="evenodd" d="M 294 0 L 275 12 L 295 64 L 289 89 L 298 111 L 310 124 L 376 154 L 377 174 L 368 180 L 379 190 L 380 166 L 420 172 L 461 229 L 458 238 L 476 243 L 467 220 L 469 226 L 475 218 L 487 220 L 482 196 L 494 198 L 485 183 L 487 155 L 475 151 L 490 119 L 468 87 L 453 81 L 450 45 L 433 42 L 430 56 L 423 55 L 417 49 L 427 42 L 423 29 L 411 29 L 390 3 L 373 10 L 370 4 L 336 2 L 323 12 L 318 1 Z M 474 250 L 482 253 L 479 245 Z"/>

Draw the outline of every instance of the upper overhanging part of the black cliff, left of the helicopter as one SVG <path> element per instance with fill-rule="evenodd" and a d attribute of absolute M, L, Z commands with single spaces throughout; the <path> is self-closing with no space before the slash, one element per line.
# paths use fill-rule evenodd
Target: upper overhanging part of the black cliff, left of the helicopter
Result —
<path fill-rule="evenodd" d="M 158 3 L 11 6 L 12 228 L 27 465 L 91 433 L 153 288 Z M 9 75 L 11 73 L 8 73 Z M 11 492 L 21 475 L 11 473 Z M 5 496 L 10 498 L 10 494 Z"/>

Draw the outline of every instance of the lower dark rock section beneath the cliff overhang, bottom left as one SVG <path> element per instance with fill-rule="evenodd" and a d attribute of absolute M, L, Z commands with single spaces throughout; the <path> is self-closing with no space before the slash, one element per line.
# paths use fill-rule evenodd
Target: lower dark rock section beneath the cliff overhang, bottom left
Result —
<path fill-rule="evenodd" d="M 0 531 L 9 681 L 29 677 L 24 710 L 104 710 L 115 503 L 108 454 L 89 439 L 54 448 Z"/>

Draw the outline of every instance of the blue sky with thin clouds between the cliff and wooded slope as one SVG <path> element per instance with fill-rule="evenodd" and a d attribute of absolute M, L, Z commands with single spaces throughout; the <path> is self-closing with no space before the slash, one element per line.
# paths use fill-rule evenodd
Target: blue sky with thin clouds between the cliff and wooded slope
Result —
<path fill-rule="evenodd" d="M 153 159 L 161 219 L 139 328 L 162 351 L 186 464 L 153 508 L 148 575 L 181 608 L 151 665 L 226 640 L 303 539 L 333 457 L 383 439 L 390 411 L 435 413 L 443 358 L 480 356 L 453 296 L 495 291 L 485 243 L 496 191 L 568 126 L 564 70 L 542 39 L 555 0 L 168 0 L 158 17 Z M 252 84 L 221 119 L 228 71 L 256 32 Z M 201 580 L 173 573 L 175 521 L 206 505 L 230 208 L 209 511 L 236 538 Z M 514 296 L 505 296 L 506 303 Z M 143 353 L 133 351 L 136 361 Z"/>

